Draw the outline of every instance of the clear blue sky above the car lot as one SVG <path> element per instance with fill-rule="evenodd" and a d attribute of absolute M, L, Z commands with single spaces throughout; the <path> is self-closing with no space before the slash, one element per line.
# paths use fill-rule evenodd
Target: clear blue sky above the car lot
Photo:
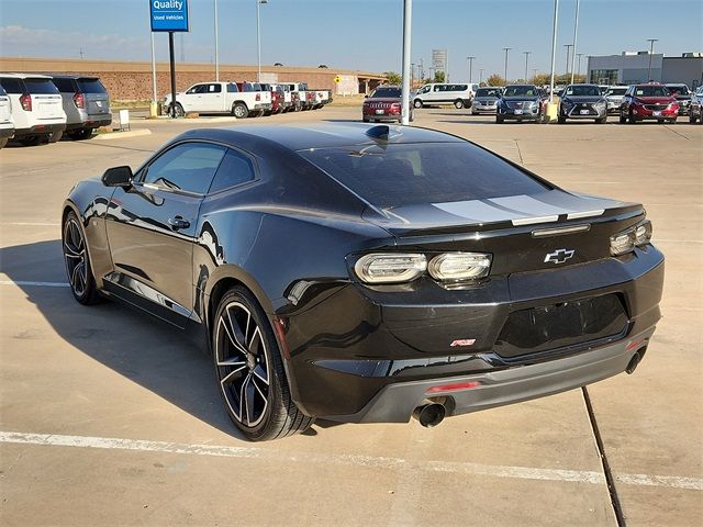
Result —
<path fill-rule="evenodd" d="M 566 69 L 576 0 L 560 0 L 557 69 Z M 401 69 L 402 0 L 269 0 L 261 7 L 261 59 L 284 65 L 386 71 Z M 553 0 L 414 0 L 413 61 L 428 67 L 433 48 L 447 48 L 451 78 L 475 80 L 503 71 L 548 71 Z M 255 0 L 219 0 L 220 60 L 256 63 Z M 191 32 L 177 36 L 177 59 L 213 60 L 213 0 L 190 0 Z M 148 0 L 1 0 L 0 55 L 145 60 L 149 58 Z M 647 49 L 680 56 L 703 51 L 701 0 L 581 0 L 579 53 Z M 157 58 L 168 54 L 157 35 Z"/>

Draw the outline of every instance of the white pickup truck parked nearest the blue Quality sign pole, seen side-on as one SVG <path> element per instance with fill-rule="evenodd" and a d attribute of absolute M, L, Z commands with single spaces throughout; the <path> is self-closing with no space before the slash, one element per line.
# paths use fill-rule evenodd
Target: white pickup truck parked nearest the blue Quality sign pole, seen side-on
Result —
<path fill-rule="evenodd" d="M 163 101 L 164 113 L 171 113 L 170 93 Z M 242 91 L 235 82 L 200 82 L 176 93 L 176 116 L 187 113 L 228 113 L 237 119 L 260 115 L 271 109 L 269 91 Z"/>

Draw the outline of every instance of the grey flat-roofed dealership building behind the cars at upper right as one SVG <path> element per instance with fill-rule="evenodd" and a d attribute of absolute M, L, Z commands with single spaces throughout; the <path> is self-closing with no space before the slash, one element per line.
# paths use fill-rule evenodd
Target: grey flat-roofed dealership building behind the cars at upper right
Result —
<path fill-rule="evenodd" d="M 660 53 L 650 57 L 649 52 L 590 56 L 588 79 L 598 85 L 682 82 L 693 89 L 703 85 L 703 53 L 683 53 L 680 57 L 665 57 Z"/>

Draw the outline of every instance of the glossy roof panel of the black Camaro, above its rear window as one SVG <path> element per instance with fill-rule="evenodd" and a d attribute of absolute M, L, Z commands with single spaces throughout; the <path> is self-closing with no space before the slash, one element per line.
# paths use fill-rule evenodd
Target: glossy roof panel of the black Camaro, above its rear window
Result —
<path fill-rule="evenodd" d="M 376 139 L 367 132 L 389 133 L 387 141 Z M 450 134 L 416 126 L 369 125 L 362 123 L 323 123 L 315 125 L 249 125 L 222 128 L 194 128 L 181 138 L 203 138 L 228 143 L 252 152 L 264 146 L 278 146 L 287 150 L 335 148 L 372 144 L 403 143 L 462 143 Z M 247 145 L 247 146 L 245 146 Z M 260 147 L 258 146 L 260 145 Z"/>

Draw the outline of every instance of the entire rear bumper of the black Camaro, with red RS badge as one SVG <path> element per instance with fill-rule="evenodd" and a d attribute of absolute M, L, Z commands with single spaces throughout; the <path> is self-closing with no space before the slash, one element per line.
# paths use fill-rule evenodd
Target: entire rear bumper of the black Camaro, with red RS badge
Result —
<path fill-rule="evenodd" d="M 450 293 L 434 282 L 406 293 L 347 284 L 279 319 L 287 328 L 279 338 L 293 400 L 305 414 L 341 422 L 405 422 L 427 389 L 437 385 L 478 383 L 451 394 L 450 413 L 458 414 L 624 371 L 661 316 L 662 287 L 663 256 L 652 246 L 621 259 L 496 278 Z M 598 338 L 589 330 L 578 341 L 550 335 L 539 346 L 506 346 L 511 339 L 504 329 L 515 313 L 549 313 L 555 305 L 603 295 L 622 302 L 625 316 L 615 330 L 609 327 Z M 547 316 L 553 327 L 560 322 Z M 537 334 L 543 328 L 539 322 L 532 326 Z M 639 340 L 641 346 L 633 344 Z"/>

